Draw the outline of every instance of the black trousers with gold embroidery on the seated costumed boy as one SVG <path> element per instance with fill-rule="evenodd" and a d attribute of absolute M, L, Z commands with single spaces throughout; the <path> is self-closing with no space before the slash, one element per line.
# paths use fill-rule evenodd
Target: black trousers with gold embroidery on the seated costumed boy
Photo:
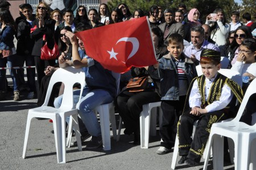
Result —
<path fill-rule="evenodd" d="M 197 163 L 203 156 L 205 144 L 209 138 L 210 128 L 212 124 L 227 119 L 224 110 L 212 111 L 200 116 L 189 114 L 187 111 L 180 117 L 177 124 L 179 138 L 179 154 L 187 157 Z M 196 131 L 192 139 L 193 123 L 199 120 L 196 125 Z"/>

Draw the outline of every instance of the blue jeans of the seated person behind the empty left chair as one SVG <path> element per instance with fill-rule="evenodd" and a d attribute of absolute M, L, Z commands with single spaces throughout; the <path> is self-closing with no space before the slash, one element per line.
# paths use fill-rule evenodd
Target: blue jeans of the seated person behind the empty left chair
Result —
<path fill-rule="evenodd" d="M 75 90 L 73 92 L 74 103 L 79 101 L 80 90 Z M 62 101 L 62 95 L 57 97 L 54 101 L 54 106 L 59 108 Z M 100 106 L 105 103 L 110 103 L 114 100 L 112 96 L 110 96 L 109 92 L 106 90 L 90 90 L 89 88 L 85 88 L 82 91 L 82 98 L 79 105 L 79 115 L 84 122 L 85 127 L 88 132 L 92 136 L 100 136 L 101 135 L 101 127 L 100 123 L 98 123 L 98 119 L 94 114 L 93 110 L 96 109 L 97 106 Z M 80 126 L 80 131 L 83 130 L 84 125 Z"/>

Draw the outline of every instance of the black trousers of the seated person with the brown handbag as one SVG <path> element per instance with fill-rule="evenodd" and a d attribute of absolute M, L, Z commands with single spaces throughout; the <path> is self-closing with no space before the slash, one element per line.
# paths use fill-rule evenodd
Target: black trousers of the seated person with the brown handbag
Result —
<path fill-rule="evenodd" d="M 142 111 L 142 105 L 159 101 L 159 94 L 152 91 L 130 93 L 126 90 L 119 94 L 116 106 L 125 125 L 126 134 L 139 131 L 139 115 Z"/>

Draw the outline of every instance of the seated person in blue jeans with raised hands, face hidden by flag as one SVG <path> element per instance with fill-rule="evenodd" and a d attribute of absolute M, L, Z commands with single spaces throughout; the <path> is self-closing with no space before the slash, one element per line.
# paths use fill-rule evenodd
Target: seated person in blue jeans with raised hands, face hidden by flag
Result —
<path fill-rule="evenodd" d="M 76 28 L 76 31 L 84 30 L 85 28 L 82 27 L 81 30 L 80 28 Z M 71 40 L 73 61 L 65 60 L 64 54 L 62 54 L 59 57 L 59 64 L 61 68 L 73 65 L 76 68 L 83 68 L 85 70 L 86 86 L 82 92 L 79 115 L 89 134 L 92 135 L 92 140 L 86 145 L 86 148 L 98 148 L 102 145 L 101 127 L 93 110 L 99 105 L 110 103 L 114 100 L 117 93 L 115 78 L 112 76 L 112 72 L 104 69 L 100 63 L 86 55 L 84 44 L 75 34 L 71 31 L 67 31 L 65 36 Z M 79 47 L 81 50 L 78 50 Z M 80 90 L 74 91 L 75 103 L 78 102 L 79 94 Z M 55 99 L 55 107 L 60 107 L 61 99 L 62 96 Z M 79 123 L 80 129 L 83 128 L 84 125 Z M 82 141 L 85 139 L 86 138 L 82 138 Z"/>

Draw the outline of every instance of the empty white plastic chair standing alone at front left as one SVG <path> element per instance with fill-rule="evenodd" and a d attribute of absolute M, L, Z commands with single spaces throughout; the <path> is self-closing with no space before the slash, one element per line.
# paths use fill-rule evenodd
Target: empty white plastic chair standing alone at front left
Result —
<path fill-rule="evenodd" d="M 49 97 L 52 92 L 53 85 L 56 82 L 63 82 L 65 88 L 63 93 L 63 99 L 61 102 L 61 106 L 59 109 L 55 107 L 47 106 Z M 55 146 L 57 152 L 57 163 L 65 163 L 65 131 L 66 131 L 66 123 L 65 118 L 69 117 L 71 121 L 75 122 L 72 125 L 72 128 L 75 130 L 76 133 L 76 140 L 79 151 L 82 151 L 81 145 L 81 134 L 79 131 L 79 124 L 77 120 L 77 106 L 79 106 L 79 102 L 77 105 L 74 106 L 73 104 L 73 85 L 75 83 L 81 84 L 81 88 L 85 84 L 85 73 L 82 69 L 76 69 L 74 67 L 66 67 L 66 68 L 59 68 L 57 69 L 51 77 L 49 82 L 46 99 L 42 106 L 36 107 L 34 109 L 28 110 L 27 116 L 27 126 L 26 126 L 26 133 L 24 139 L 24 147 L 23 147 L 23 158 L 26 158 L 26 151 L 27 151 L 27 140 L 28 134 L 30 131 L 30 122 L 32 118 L 49 118 L 53 121 L 53 130 L 55 136 Z M 82 90 L 80 93 L 81 98 Z"/>

